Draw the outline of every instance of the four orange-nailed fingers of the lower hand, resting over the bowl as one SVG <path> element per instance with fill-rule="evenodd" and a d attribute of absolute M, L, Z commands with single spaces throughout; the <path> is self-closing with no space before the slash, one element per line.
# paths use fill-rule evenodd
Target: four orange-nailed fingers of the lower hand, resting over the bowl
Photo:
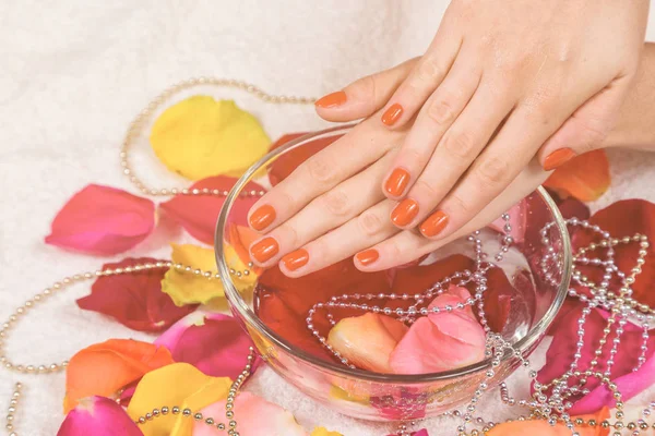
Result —
<path fill-rule="evenodd" d="M 380 85 L 389 87 L 389 82 Z M 266 193 L 249 214 L 250 226 L 265 233 L 250 246 L 262 267 L 279 263 L 289 277 L 300 277 L 355 255 L 365 271 L 409 263 L 486 226 L 533 192 L 548 175 L 533 159 L 513 183 L 480 214 L 450 237 L 431 241 L 393 226 L 395 202 L 380 184 L 396 146 L 410 128 L 389 132 L 370 118 L 299 166 Z"/>

